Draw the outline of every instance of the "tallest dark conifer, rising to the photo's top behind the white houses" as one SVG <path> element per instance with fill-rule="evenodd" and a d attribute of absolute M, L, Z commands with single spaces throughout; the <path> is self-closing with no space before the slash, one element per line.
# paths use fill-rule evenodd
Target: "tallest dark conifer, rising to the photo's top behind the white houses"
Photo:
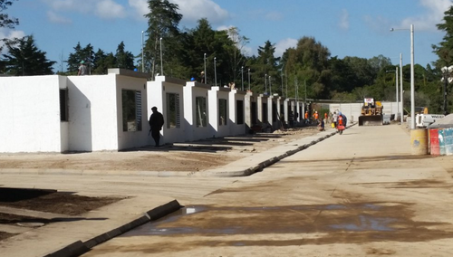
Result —
<path fill-rule="evenodd" d="M 146 52 L 146 66 L 150 69 L 151 78 L 159 72 L 160 62 L 169 64 L 178 63 L 178 52 L 180 52 L 180 44 L 178 44 L 178 24 L 182 18 L 178 14 L 178 5 L 169 3 L 169 0 L 149 0 L 149 14 L 145 14 L 148 19 L 148 39 L 145 43 L 144 51 Z M 162 46 L 161 43 L 165 43 Z M 164 60 L 160 60 L 160 49 Z M 146 63 L 145 62 L 145 63 Z M 174 66 L 176 68 L 176 65 Z M 164 71 L 165 74 L 165 71 Z"/>

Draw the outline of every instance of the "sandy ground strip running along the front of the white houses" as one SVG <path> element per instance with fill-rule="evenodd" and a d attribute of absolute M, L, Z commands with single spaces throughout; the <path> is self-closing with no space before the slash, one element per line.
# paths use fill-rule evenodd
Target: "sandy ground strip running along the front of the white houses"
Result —
<path fill-rule="evenodd" d="M 0 154 L 1 168 L 48 168 L 78 170 L 202 171 L 224 166 L 236 159 L 314 135 L 316 128 L 276 130 L 274 133 L 213 138 L 135 148 L 120 152 L 69 154 Z"/>

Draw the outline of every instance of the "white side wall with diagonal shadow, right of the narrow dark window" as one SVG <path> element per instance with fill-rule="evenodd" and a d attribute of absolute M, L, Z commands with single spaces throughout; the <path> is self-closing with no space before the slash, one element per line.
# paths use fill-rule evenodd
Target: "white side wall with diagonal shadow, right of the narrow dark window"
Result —
<path fill-rule="evenodd" d="M 69 148 L 118 150 L 116 75 L 69 76 L 68 90 Z"/>

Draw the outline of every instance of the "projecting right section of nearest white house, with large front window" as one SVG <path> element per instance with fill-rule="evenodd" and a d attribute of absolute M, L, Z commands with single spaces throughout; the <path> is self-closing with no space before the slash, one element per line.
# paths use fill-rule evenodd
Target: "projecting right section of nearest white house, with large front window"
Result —
<path fill-rule="evenodd" d="M 69 150 L 148 145 L 147 77 L 123 69 L 109 69 L 107 75 L 68 77 Z"/>

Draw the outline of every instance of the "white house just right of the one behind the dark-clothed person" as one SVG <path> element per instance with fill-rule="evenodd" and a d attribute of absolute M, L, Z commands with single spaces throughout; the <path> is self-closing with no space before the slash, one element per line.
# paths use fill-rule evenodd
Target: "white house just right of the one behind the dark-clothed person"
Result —
<path fill-rule="evenodd" d="M 184 125 L 188 141 L 210 138 L 209 109 L 207 91 L 210 85 L 188 81 L 184 87 Z"/>

